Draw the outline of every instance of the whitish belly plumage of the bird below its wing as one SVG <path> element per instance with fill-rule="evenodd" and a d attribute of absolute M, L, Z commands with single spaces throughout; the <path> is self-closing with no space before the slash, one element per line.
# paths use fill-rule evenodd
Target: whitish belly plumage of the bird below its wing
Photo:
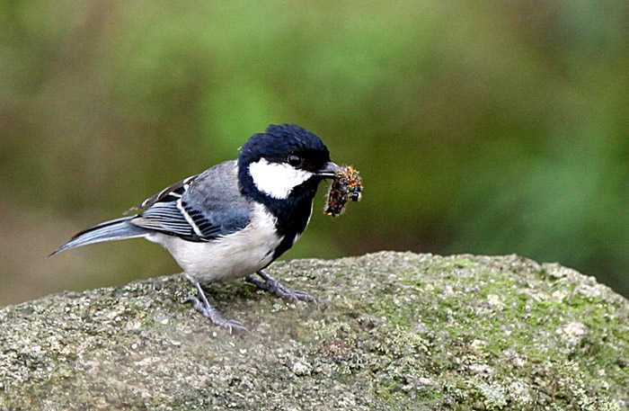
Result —
<path fill-rule="evenodd" d="M 196 243 L 155 233 L 148 240 L 164 246 L 192 281 L 223 281 L 255 273 L 273 260 L 282 237 L 275 231 L 276 219 L 261 204 L 255 204 L 249 226 L 216 240 Z"/>

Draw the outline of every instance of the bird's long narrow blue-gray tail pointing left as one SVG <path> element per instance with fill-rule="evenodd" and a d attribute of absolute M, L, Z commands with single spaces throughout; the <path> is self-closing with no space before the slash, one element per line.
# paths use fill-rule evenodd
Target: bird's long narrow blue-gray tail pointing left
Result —
<path fill-rule="evenodd" d="M 134 226 L 129 222 L 129 220 L 135 217 L 136 216 L 112 219 L 111 221 L 98 224 L 93 228 L 87 228 L 76 234 L 75 237 L 72 237 L 66 244 L 60 246 L 58 250 L 49 255 L 49 257 L 78 246 L 87 246 L 88 244 L 125 238 L 146 237 L 146 235 L 150 233 L 148 229 Z"/>

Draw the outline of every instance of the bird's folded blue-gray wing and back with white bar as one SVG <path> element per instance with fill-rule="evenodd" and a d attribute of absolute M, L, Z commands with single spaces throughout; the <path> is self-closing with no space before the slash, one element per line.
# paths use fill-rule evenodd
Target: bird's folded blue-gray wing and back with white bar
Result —
<path fill-rule="evenodd" d="M 238 189 L 237 164 L 227 161 L 147 199 L 131 224 L 189 241 L 209 241 L 249 224 L 251 204 Z"/>

